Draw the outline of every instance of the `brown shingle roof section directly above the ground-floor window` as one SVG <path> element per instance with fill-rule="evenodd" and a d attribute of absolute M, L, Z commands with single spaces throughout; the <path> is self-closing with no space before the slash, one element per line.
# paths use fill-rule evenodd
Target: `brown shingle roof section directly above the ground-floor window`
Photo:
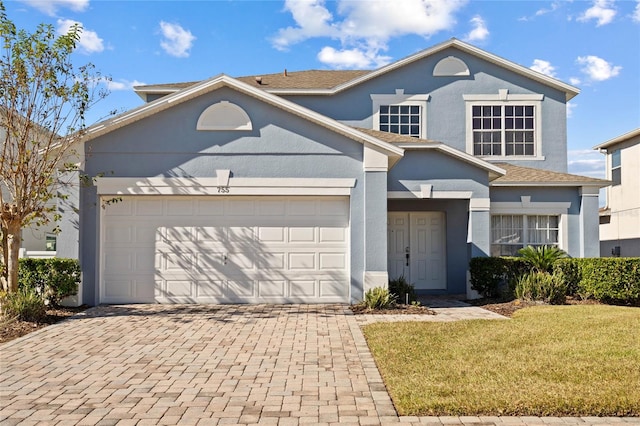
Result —
<path fill-rule="evenodd" d="M 532 167 L 515 166 L 509 163 L 494 163 L 507 171 L 507 174 L 491 182 L 492 186 L 607 186 L 608 180 L 569 173 L 552 172 Z"/>

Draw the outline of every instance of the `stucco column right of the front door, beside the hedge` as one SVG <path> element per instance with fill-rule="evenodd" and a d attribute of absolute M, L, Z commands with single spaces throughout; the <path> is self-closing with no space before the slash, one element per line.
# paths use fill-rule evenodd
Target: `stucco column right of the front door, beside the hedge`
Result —
<path fill-rule="evenodd" d="M 472 198 L 469 200 L 469 223 L 467 243 L 469 244 L 469 260 L 472 257 L 491 255 L 491 200 L 489 198 Z M 480 295 L 471 289 L 470 275 L 467 271 L 467 298 L 477 299 Z"/>

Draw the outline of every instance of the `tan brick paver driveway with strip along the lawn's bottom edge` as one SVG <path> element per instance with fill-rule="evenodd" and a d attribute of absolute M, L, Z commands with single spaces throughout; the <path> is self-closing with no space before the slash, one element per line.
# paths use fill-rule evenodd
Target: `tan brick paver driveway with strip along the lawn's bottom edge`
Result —
<path fill-rule="evenodd" d="M 640 424 L 398 417 L 357 318 L 344 305 L 92 308 L 0 345 L 0 424 Z"/>

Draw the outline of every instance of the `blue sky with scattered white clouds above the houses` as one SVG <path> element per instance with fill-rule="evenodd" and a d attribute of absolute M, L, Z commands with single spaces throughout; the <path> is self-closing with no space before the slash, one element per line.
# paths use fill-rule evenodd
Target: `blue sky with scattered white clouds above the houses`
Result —
<path fill-rule="evenodd" d="M 375 69 L 451 37 L 581 89 L 569 171 L 604 177 L 591 148 L 640 127 L 639 0 L 5 0 L 19 27 L 80 23 L 77 65 L 109 75 L 89 114 L 141 105 L 132 86 L 225 73 Z"/>

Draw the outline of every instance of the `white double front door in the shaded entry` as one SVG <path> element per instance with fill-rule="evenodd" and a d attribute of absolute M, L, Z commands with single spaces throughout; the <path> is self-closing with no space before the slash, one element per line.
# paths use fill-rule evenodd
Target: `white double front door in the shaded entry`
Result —
<path fill-rule="evenodd" d="M 416 290 L 445 290 L 442 212 L 391 212 L 387 221 L 389 278 L 404 276 Z"/>

